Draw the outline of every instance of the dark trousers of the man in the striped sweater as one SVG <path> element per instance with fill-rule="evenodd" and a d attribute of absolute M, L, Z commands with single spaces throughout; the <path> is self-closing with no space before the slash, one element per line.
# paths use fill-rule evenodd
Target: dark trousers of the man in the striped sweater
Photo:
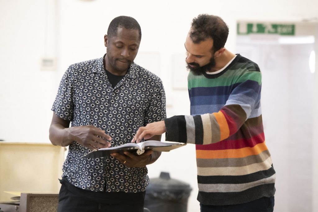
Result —
<path fill-rule="evenodd" d="M 203 205 L 201 212 L 273 212 L 274 197 L 262 197 L 260 199 L 237 205 Z"/>

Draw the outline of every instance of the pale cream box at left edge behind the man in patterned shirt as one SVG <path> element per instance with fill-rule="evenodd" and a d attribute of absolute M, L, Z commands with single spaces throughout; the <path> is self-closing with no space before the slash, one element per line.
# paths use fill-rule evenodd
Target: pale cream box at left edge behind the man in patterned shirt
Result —
<path fill-rule="evenodd" d="M 59 193 L 65 147 L 51 143 L 0 142 L 0 201 L 9 192 Z"/>

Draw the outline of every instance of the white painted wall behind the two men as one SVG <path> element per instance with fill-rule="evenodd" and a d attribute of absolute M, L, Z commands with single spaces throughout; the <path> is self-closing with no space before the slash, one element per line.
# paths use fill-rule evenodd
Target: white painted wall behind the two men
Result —
<path fill-rule="evenodd" d="M 301 21 L 317 17 L 316 8 L 318 1 L 315 0 L 293 3 L 287 0 L 123 0 L 120 3 L 0 0 L 0 139 L 49 142 L 50 109 L 62 74 L 70 64 L 98 58 L 105 53 L 103 36 L 116 16 L 132 16 L 140 23 L 142 42 L 136 62 L 162 78 L 167 94 L 167 113 L 172 116 L 189 114 L 187 90 L 173 90 L 175 63 L 172 58 L 185 55 L 183 44 L 193 17 L 200 13 L 223 17 L 230 27 L 226 47 L 235 52 L 237 20 Z M 56 58 L 55 68 L 42 70 L 40 61 L 43 57 Z M 149 63 L 149 58 L 154 62 Z M 182 73 L 182 70 L 178 71 Z M 184 77 L 180 80 L 184 80 L 186 87 Z M 314 95 L 317 96 L 317 90 Z M 315 99 L 315 105 L 318 105 L 318 99 Z M 314 115 L 317 126 L 318 116 Z M 314 136 L 318 138 L 317 134 Z M 317 158 L 315 160 L 313 164 L 318 163 Z M 190 183 L 193 191 L 188 211 L 199 211 L 194 146 L 163 153 L 159 161 L 149 166 L 149 176 L 157 177 L 160 171 L 168 171 L 172 178 Z M 317 175 L 316 169 L 314 172 Z M 317 197 L 317 189 L 315 191 Z M 318 211 L 318 206 L 314 209 Z"/>

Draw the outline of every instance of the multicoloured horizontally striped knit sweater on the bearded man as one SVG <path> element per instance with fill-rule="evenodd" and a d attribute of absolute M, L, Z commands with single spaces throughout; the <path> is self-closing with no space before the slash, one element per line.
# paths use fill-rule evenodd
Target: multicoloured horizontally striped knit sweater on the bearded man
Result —
<path fill-rule="evenodd" d="M 232 205 L 274 195 L 261 85 L 258 65 L 238 54 L 217 74 L 190 72 L 191 115 L 165 119 L 166 140 L 196 144 L 200 203 Z"/>

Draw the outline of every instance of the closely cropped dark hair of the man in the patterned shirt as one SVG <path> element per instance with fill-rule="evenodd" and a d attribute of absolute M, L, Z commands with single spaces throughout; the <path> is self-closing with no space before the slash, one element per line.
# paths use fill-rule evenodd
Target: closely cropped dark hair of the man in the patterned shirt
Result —
<path fill-rule="evenodd" d="M 141 28 L 135 18 L 129 16 L 115 17 L 109 24 L 107 30 L 108 38 L 112 38 L 117 35 L 118 27 L 123 27 L 128 30 L 139 31 L 139 41 L 141 40 Z"/>

